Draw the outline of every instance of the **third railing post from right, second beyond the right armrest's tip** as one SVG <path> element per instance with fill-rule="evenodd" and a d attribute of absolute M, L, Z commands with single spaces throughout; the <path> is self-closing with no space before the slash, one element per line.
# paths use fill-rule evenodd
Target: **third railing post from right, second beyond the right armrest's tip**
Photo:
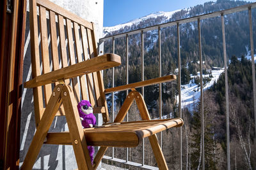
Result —
<path fill-rule="evenodd" d="M 198 41 L 199 41 L 199 56 L 200 56 L 200 99 L 201 99 L 201 135 L 202 135 L 202 169 L 204 170 L 204 84 L 203 84 L 203 59 L 202 59 L 202 44 L 201 44 L 201 26 L 200 18 L 197 20 L 198 23 Z"/>

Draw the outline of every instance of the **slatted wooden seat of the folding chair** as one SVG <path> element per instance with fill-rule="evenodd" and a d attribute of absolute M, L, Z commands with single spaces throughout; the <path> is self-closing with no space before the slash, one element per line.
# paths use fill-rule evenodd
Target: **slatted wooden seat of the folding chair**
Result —
<path fill-rule="evenodd" d="M 143 138 L 171 127 L 180 127 L 181 125 L 183 125 L 181 118 L 121 122 L 120 124 L 108 124 L 108 126 L 103 127 L 86 128 L 84 129 L 84 134 L 87 145 L 135 147 L 140 144 Z M 57 145 L 65 143 L 70 145 L 71 140 L 68 136 L 68 132 L 49 132 L 45 143 Z"/>

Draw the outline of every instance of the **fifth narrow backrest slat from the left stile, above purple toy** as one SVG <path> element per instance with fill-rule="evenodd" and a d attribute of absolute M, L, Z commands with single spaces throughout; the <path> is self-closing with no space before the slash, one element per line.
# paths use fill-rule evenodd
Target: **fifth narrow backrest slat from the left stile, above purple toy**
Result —
<path fill-rule="evenodd" d="M 74 22 L 74 32 L 75 32 L 75 39 L 76 39 L 76 54 L 77 54 L 77 61 L 83 62 L 82 59 L 82 50 L 81 50 L 81 41 L 79 38 L 79 26 L 76 22 Z M 79 76 L 80 80 L 80 90 L 82 94 L 83 100 L 88 100 L 87 93 L 86 93 L 86 83 L 85 83 L 85 76 Z"/>

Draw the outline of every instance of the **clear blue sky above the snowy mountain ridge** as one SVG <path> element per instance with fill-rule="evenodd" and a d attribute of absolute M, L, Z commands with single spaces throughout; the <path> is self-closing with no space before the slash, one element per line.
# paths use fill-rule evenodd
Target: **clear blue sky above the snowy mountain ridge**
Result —
<path fill-rule="evenodd" d="M 156 11 L 180 10 L 209 1 L 211 0 L 104 0 L 103 25 L 111 27 Z"/>

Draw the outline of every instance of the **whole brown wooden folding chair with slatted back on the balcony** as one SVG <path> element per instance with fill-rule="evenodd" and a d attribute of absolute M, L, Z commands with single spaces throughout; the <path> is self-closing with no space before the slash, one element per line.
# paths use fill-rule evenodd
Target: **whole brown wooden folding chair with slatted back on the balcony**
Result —
<path fill-rule="evenodd" d="M 32 169 L 44 143 L 72 145 L 78 168 L 96 169 L 108 146 L 136 147 L 146 137 L 150 140 L 159 169 L 168 169 L 156 133 L 179 127 L 183 121 L 181 118 L 150 120 L 143 96 L 135 88 L 172 81 L 176 77 L 169 75 L 105 90 L 100 70 L 118 66 L 121 60 L 115 54 L 97 56 L 93 23 L 47 0 L 30 0 L 29 9 L 33 79 L 24 83 L 24 87 L 33 88 L 36 132 L 21 169 Z M 48 33 L 51 34 L 50 46 Z M 131 89 L 131 92 L 116 115 L 115 122 L 108 124 L 105 94 L 127 89 Z M 102 113 L 104 124 L 101 127 L 83 129 L 77 111 L 77 103 L 81 99 L 92 103 L 93 113 Z M 122 122 L 134 100 L 142 121 Z M 69 132 L 48 132 L 56 116 L 67 118 Z M 93 165 L 87 145 L 100 146 Z"/>

